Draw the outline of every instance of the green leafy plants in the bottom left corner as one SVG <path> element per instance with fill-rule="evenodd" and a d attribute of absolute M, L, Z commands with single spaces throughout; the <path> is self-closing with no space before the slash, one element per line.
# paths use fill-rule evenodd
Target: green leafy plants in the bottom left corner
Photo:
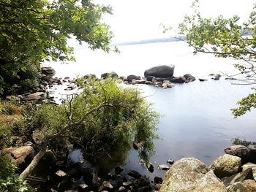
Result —
<path fill-rule="evenodd" d="M 0 191 L 1 192 L 29 192 L 31 188 L 18 178 L 15 173 L 17 167 L 12 164 L 9 158 L 0 153 Z"/>

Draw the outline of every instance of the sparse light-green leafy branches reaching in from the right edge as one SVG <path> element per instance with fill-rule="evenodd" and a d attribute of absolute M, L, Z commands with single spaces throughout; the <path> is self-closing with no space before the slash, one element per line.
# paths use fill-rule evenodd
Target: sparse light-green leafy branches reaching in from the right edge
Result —
<path fill-rule="evenodd" d="M 210 53 L 217 57 L 238 60 L 235 67 L 246 77 L 244 84 L 256 84 L 256 12 L 252 11 L 249 20 L 239 23 L 237 15 L 233 18 L 202 18 L 198 0 L 193 3 L 195 13 L 186 15 L 179 25 L 179 33 L 187 37 L 186 42 L 194 48 L 194 53 Z M 256 7 L 254 7 L 256 8 Z M 238 75 L 238 74 L 237 74 Z M 255 88 L 253 88 L 254 91 Z M 241 101 L 240 107 L 232 109 L 235 117 L 256 108 L 256 93 L 249 94 Z"/>

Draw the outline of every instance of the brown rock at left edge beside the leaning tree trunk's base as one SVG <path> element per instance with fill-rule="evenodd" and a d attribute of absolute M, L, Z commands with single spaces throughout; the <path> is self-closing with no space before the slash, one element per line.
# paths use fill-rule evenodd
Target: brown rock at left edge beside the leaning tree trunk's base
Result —
<path fill-rule="evenodd" d="M 21 169 L 24 169 L 34 158 L 34 148 L 31 146 L 10 147 L 1 150 L 2 153 L 7 153 L 7 156 Z"/>

